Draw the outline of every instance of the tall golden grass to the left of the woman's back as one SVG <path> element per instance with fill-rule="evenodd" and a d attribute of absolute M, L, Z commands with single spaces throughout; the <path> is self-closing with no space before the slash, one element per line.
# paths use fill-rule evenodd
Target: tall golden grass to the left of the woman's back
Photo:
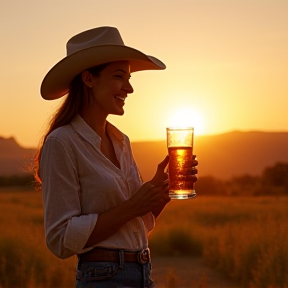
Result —
<path fill-rule="evenodd" d="M 75 259 L 46 248 L 39 192 L 0 193 L 0 287 L 73 287 Z"/>

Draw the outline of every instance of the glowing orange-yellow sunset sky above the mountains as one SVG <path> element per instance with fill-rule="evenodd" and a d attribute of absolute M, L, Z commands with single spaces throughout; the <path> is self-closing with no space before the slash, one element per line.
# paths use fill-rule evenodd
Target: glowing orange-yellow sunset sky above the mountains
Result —
<path fill-rule="evenodd" d="M 71 36 L 104 25 L 167 65 L 132 74 L 110 118 L 132 141 L 164 139 L 183 108 L 196 134 L 288 131 L 287 13 L 287 0 L 3 0 L 0 136 L 37 145 L 59 104 L 41 99 L 44 75 Z"/>

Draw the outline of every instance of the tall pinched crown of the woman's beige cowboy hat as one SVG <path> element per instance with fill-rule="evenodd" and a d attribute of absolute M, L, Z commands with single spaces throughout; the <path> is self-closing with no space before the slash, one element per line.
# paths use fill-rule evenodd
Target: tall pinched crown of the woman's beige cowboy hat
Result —
<path fill-rule="evenodd" d="M 98 27 L 73 36 L 66 45 L 67 56 L 83 49 L 103 45 L 124 46 L 117 28 Z"/>

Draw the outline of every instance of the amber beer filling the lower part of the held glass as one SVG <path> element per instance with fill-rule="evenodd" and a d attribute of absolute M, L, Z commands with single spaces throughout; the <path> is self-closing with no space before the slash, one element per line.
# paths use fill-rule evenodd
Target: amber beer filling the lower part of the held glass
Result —
<path fill-rule="evenodd" d="M 173 199 L 195 197 L 192 147 L 169 147 L 169 195 Z"/>

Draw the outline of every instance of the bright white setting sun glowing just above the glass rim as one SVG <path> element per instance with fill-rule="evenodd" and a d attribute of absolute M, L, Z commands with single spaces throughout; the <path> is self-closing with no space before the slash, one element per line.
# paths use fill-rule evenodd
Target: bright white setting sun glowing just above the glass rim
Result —
<path fill-rule="evenodd" d="M 169 127 L 194 127 L 195 134 L 204 134 L 204 120 L 202 114 L 188 107 L 177 109 L 168 121 Z"/>

